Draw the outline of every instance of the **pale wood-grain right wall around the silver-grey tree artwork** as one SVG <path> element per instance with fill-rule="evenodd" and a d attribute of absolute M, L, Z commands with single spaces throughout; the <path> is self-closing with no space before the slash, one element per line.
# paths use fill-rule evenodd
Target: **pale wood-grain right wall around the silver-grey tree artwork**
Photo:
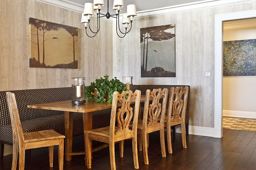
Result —
<path fill-rule="evenodd" d="M 255 10 L 256 1 L 134 19 L 123 39 L 113 33 L 113 76 L 134 84 L 190 85 L 190 125 L 214 127 L 214 17 Z M 176 78 L 140 78 L 140 28 L 176 24 Z M 114 26 L 115 28 L 115 23 Z M 211 78 L 204 71 L 212 72 Z"/>

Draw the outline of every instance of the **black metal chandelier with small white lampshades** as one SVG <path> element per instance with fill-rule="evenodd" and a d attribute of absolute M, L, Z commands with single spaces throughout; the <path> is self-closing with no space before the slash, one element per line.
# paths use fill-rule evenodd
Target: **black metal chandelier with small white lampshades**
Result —
<path fill-rule="evenodd" d="M 100 31 L 100 18 L 106 17 L 107 19 L 109 19 L 110 17 L 112 17 L 112 18 L 116 18 L 116 33 L 118 37 L 123 38 L 132 29 L 132 18 L 137 16 L 136 6 L 134 4 L 128 5 L 127 13 L 123 14 L 122 24 L 125 25 L 125 32 L 122 32 L 120 30 L 120 24 L 119 24 L 119 12 L 124 7 L 124 0 L 114 0 L 113 10 L 116 11 L 116 14 L 113 14 L 113 15 L 110 15 L 109 12 L 107 12 L 106 14 L 100 13 L 100 11 L 102 10 L 102 6 L 104 6 L 104 0 L 94 0 L 93 4 L 92 3 L 84 4 L 84 13 L 82 13 L 81 23 L 85 25 L 86 35 L 88 37 L 95 37 L 97 33 Z M 96 31 L 92 31 L 90 26 L 91 25 L 90 18 L 94 16 L 94 10 L 96 11 L 96 14 L 97 14 L 97 30 Z M 128 25 L 130 25 L 129 31 L 127 31 Z M 92 34 L 92 36 L 88 35 L 87 27 L 89 27 L 91 32 L 90 34 Z"/>

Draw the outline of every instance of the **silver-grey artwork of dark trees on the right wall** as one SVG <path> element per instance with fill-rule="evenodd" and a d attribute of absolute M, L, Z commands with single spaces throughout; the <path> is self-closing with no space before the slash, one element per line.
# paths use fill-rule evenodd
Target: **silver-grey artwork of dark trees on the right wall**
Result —
<path fill-rule="evenodd" d="M 175 24 L 140 28 L 141 77 L 176 77 Z"/>

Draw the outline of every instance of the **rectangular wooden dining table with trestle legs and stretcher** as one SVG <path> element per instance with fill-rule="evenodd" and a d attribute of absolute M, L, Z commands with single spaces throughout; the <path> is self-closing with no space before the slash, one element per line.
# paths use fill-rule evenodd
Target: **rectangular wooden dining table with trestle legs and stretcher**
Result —
<path fill-rule="evenodd" d="M 141 95 L 140 103 L 145 102 L 145 95 Z M 134 104 L 132 102 L 131 104 Z M 122 106 L 121 102 L 118 102 L 117 106 Z M 72 104 L 71 100 L 62 101 L 62 102 L 54 102 L 54 103 L 46 103 L 46 104 L 35 104 L 28 105 L 28 108 L 34 109 L 47 109 L 47 110 L 58 110 L 64 111 L 65 117 L 65 155 L 66 161 L 72 160 L 72 155 L 85 154 L 85 151 L 81 152 L 72 152 L 72 138 L 73 138 L 73 113 L 81 113 L 83 115 L 83 128 L 85 130 L 92 129 L 92 112 L 109 109 L 112 108 L 112 104 L 109 103 L 96 103 L 94 101 L 89 101 L 86 99 L 85 104 Z M 139 109 L 139 117 L 140 117 L 140 109 Z M 108 144 L 102 145 L 100 147 L 96 147 L 92 149 L 92 152 L 108 147 Z"/>

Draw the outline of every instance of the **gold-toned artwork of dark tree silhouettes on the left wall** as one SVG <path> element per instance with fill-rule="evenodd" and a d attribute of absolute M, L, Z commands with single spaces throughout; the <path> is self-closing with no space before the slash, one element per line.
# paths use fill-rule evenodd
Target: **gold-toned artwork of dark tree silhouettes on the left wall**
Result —
<path fill-rule="evenodd" d="M 78 28 L 29 18 L 30 67 L 78 68 Z"/>

